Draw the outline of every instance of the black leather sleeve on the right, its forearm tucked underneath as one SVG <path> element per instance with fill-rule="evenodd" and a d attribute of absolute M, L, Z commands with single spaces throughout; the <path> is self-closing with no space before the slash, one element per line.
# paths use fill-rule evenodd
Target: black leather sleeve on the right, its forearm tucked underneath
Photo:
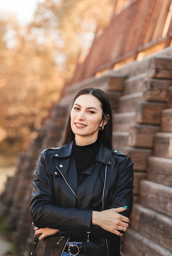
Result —
<path fill-rule="evenodd" d="M 133 206 L 133 162 L 130 157 L 125 157 L 125 161 L 121 164 L 121 167 L 117 171 L 116 183 L 112 196 L 110 198 L 110 205 L 107 209 L 127 206 L 128 208 L 121 212 L 122 215 L 130 218 L 130 214 Z M 122 232 L 122 231 L 121 231 Z M 123 232 L 122 232 L 123 233 Z M 78 236 L 78 233 L 70 233 L 68 231 L 60 231 L 60 236 Z M 86 234 L 83 233 L 83 236 Z M 80 234 L 81 236 L 81 234 Z M 97 225 L 91 225 L 90 238 L 91 237 L 112 237 L 116 236 Z"/>

